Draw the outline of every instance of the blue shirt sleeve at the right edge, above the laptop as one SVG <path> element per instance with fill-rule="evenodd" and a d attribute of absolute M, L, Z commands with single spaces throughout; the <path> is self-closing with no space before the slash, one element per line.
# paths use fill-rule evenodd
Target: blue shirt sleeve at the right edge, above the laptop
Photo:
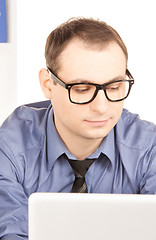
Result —
<path fill-rule="evenodd" d="M 140 194 L 156 194 L 156 146 L 141 159 L 139 176 Z"/>

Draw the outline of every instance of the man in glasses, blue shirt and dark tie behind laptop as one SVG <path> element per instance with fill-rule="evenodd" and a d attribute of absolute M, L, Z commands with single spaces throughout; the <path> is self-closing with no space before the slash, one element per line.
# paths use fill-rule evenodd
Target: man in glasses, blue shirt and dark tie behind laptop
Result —
<path fill-rule="evenodd" d="M 27 239 L 36 191 L 156 193 L 156 128 L 123 109 L 134 79 L 119 34 L 72 19 L 49 35 L 45 58 L 48 101 L 19 107 L 0 129 L 3 240 Z"/>

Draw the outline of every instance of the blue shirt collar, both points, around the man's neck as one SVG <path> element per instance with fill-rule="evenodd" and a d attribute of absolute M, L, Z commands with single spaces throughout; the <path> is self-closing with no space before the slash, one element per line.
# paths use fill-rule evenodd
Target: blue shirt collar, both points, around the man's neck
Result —
<path fill-rule="evenodd" d="M 55 161 L 63 154 L 66 154 L 68 158 L 75 159 L 66 148 L 64 142 L 60 138 L 53 120 L 53 109 L 49 111 L 47 121 L 47 155 L 48 155 L 48 170 L 51 170 Z M 114 147 L 114 128 L 103 139 L 99 148 L 92 153 L 88 158 L 98 158 L 103 153 L 113 164 L 115 161 L 115 147 Z"/>

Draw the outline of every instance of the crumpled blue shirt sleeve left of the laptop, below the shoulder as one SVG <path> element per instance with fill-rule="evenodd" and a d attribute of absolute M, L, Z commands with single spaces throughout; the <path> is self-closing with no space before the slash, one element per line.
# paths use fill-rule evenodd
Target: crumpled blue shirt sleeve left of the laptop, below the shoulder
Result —
<path fill-rule="evenodd" d="M 0 150 L 0 239 L 26 240 L 28 197 L 11 153 Z"/>

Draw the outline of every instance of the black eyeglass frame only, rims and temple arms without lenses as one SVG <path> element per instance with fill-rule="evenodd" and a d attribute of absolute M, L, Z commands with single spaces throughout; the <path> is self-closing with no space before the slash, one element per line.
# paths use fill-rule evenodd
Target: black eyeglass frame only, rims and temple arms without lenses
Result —
<path fill-rule="evenodd" d="M 52 80 L 54 80 L 56 83 L 58 83 L 59 85 L 61 85 L 62 87 L 66 88 L 68 90 L 68 95 L 69 95 L 69 100 L 71 103 L 74 103 L 74 104 L 88 104 L 90 102 L 92 102 L 97 94 L 98 94 L 98 91 L 99 90 L 103 90 L 104 93 L 105 93 L 105 96 L 106 98 L 110 101 L 110 102 L 120 102 L 120 101 L 123 101 L 124 99 L 126 99 L 131 91 L 131 88 L 132 88 L 132 85 L 134 84 L 134 78 L 132 76 L 132 74 L 130 73 L 130 71 L 128 69 L 126 69 L 126 75 L 130 78 L 128 80 L 115 80 L 115 81 L 111 81 L 111 82 L 108 82 L 108 83 L 105 83 L 105 84 L 95 84 L 95 83 L 70 83 L 70 84 L 66 84 L 65 82 L 63 82 L 60 78 L 58 78 L 52 71 L 50 68 L 47 68 L 49 70 L 49 74 L 50 74 L 50 77 Z M 124 97 L 124 98 L 121 98 L 121 99 L 118 99 L 118 100 L 111 100 L 108 95 L 107 95 L 107 91 L 106 91 L 106 88 L 107 86 L 109 86 L 110 84 L 112 83 L 119 83 L 119 82 L 128 82 L 129 83 L 129 90 L 128 90 L 128 93 L 127 95 Z M 96 90 L 95 90 L 95 93 L 93 95 L 93 97 L 87 101 L 87 102 L 83 102 L 83 103 L 78 103 L 78 102 L 74 102 L 72 101 L 71 99 L 71 94 L 70 94 L 70 89 L 72 86 L 75 86 L 75 85 L 92 85 L 92 86 L 95 86 L 96 87 Z"/>

